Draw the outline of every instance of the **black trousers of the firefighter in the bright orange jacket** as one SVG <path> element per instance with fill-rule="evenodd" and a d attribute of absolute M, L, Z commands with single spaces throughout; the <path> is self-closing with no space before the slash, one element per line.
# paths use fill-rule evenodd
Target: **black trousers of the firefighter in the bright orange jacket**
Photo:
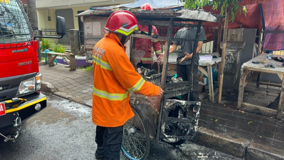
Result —
<path fill-rule="evenodd" d="M 95 142 L 104 147 L 105 160 L 120 160 L 123 126 L 96 128 Z"/>

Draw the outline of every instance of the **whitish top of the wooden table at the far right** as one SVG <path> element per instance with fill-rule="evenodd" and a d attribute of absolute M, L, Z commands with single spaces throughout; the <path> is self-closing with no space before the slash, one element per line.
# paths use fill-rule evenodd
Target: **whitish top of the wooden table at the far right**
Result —
<path fill-rule="evenodd" d="M 242 69 L 246 68 L 255 68 L 255 69 L 262 69 L 262 70 L 266 70 L 266 71 L 278 71 L 278 72 L 283 72 L 284 73 L 284 67 L 282 67 L 282 62 L 278 62 L 275 61 L 273 59 L 271 59 L 271 63 L 276 63 L 276 68 L 271 68 L 271 67 L 265 67 L 264 63 L 259 63 L 259 64 L 254 64 L 252 63 L 252 61 L 257 62 L 257 61 L 262 61 L 262 60 L 266 60 L 266 56 L 267 54 L 263 53 L 255 58 L 253 58 L 252 60 L 247 61 L 246 63 L 244 63 L 242 65 Z M 284 56 L 280 56 L 280 55 L 273 55 L 273 57 L 278 57 L 278 58 L 284 58 Z"/>

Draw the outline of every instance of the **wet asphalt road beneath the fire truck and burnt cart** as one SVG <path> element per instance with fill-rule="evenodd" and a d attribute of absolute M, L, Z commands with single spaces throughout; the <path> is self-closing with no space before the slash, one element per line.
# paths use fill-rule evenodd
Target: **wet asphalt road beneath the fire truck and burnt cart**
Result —
<path fill-rule="evenodd" d="M 44 110 L 23 124 L 16 142 L 0 141 L 0 160 L 95 159 L 96 126 L 91 122 L 91 108 L 55 96 L 48 96 L 47 102 Z M 201 155 L 208 158 L 197 158 Z M 174 147 L 163 141 L 151 142 L 147 159 L 241 160 L 190 142 Z"/>

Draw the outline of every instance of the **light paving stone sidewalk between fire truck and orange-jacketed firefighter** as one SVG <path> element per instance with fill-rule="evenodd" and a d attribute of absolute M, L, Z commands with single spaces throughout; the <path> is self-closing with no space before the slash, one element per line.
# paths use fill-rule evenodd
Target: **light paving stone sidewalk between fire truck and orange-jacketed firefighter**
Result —
<path fill-rule="evenodd" d="M 73 96 L 81 101 L 92 102 L 93 92 L 93 72 L 87 72 L 80 69 L 69 71 L 64 65 L 39 66 L 39 72 L 42 74 L 43 81 L 52 84 L 58 91 Z"/>

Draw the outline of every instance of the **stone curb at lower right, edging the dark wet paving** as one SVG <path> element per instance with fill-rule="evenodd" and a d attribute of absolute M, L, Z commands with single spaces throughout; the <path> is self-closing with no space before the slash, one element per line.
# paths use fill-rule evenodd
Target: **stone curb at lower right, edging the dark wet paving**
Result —
<path fill-rule="evenodd" d="M 243 138 L 233 138 L 203 127 L 197 130 L 195 143 L 245 160 L 284 160 L 281 149 L 260 145 Z"/>

